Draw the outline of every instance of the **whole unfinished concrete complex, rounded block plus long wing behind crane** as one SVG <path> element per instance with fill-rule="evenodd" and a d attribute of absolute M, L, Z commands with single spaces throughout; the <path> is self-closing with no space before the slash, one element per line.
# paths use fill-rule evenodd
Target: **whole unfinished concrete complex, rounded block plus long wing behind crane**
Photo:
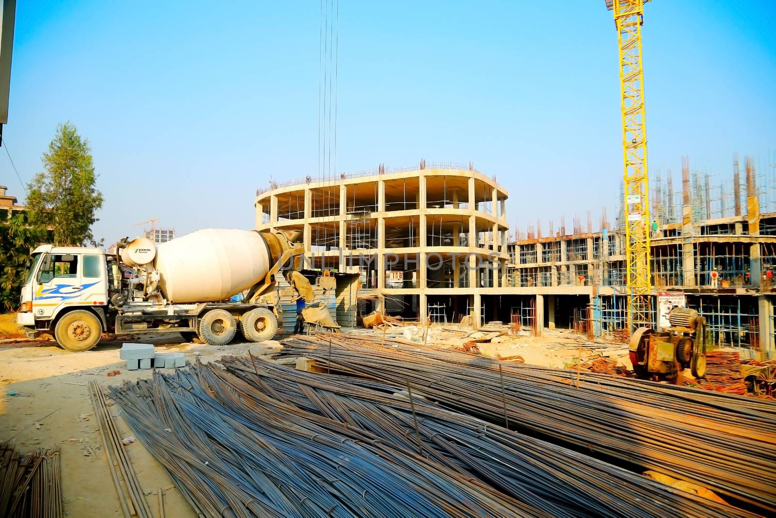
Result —
<path fill-rule="evenodd" d="M 715 343 L 772 351 L 776 179 L 746 175 L 712 186 L 687 162 L 681 189 L 653 179 L 653 301 L 686 304 L 708 320 Z M 290 180 L 257 192 L 256 228 L 303 232 L 311 269 L 362 276 L 359 296 L 406 318 L 627 335 L 625 238 L 619 217 L 593 231 L 539 225 L 508 242 L 504 187 L 473 165 L 377 169 L 336 179 Z M 622 203 L 622 202 L 621 202 Z M 622 205 L 618 210 L 622 214 Z M 771 270 L 772 272 L 772 270 Z M 661 305 L 662 304 L 662 305 Z M 663 311 L 665 310 L 665 311 Z"/>

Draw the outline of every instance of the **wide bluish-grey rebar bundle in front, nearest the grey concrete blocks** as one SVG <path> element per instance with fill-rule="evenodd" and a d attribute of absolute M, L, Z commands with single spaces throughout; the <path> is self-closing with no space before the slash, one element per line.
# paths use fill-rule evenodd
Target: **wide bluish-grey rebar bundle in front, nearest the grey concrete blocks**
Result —
<path fill-rule="evenodd" d="M 553 516 L 214 368 L 113 388 L 203 516 Z"/>

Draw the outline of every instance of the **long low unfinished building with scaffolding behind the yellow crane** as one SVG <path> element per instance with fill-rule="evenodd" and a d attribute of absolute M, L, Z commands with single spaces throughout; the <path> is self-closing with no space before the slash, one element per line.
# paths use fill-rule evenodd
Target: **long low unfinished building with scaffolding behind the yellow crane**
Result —
<path fill-rule="evenodd" d="M 743 171 L 740 171 L 743 169 Z M 653 179 L 650 192 L 652 323 L 672 304 L 697 309 L 713 343 L 774 352 L 776 178 L 757 175 L 750 159 L 733 177 L 714 185 L 685 158 L 682 186 L 670 176 Z M 621 207 L 618 214 L 622 214 Z M 570 231 L 569 231 L 570 230 Z M 618 217 L 601 217 L 593 231 L 575 218 L 573 228 L 550 224 L 516 231 L 508 244 L 508 280 L 499 315 L 531 329 L 576 329 L 592 336 L 626 339 L 625 235 Z M 677 302 L 677 297 L 679 302 Z"/>

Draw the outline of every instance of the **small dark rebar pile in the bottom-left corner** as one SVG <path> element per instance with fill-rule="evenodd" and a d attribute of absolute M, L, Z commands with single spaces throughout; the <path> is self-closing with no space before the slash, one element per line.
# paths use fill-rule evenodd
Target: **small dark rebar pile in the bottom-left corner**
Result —
<path fill-rule="evenodd" d="M 62 516 L 59 447 L 20 454 L 12 443 L 0 443 L 0 516 Z"/>

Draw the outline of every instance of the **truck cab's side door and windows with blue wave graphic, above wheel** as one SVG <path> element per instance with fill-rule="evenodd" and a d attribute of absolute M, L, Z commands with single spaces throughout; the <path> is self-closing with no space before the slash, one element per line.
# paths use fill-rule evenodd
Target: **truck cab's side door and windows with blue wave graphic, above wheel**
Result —
<path fill-rule="evenodd" d="M 35 318 L 52 318 L 62 308 L 83 304 L 99 304 L 106 295 L 100 286 L 104 267 L 100 256 L 47 254 L 41 259 L 33 298 Z M 104 304 L 104 302 L 103 302 Z"/>

